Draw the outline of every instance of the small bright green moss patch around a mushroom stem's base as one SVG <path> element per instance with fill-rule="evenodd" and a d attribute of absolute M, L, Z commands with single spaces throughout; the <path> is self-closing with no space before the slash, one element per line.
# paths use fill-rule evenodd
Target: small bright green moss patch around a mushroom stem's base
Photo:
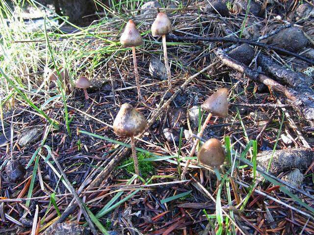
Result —
<path fill-rule="evenodd" d="M 148 153 L 137 153 L 137 159 L 138 159 L 138 167 L 139 171 L 142 174 L 142 178 L 147 179 L 150 176 L 154 175 L 155 172 L 155 167 L 152 162 L 149 161 L 143 161 L 145 158 L 149 158 Z M 128 164 L 128 165 L 127 165 Z M 135 172 L 134 169 L 134 163 L 133 163 L 133 158 L 130 157 L 126 161 L 122 163 L 122 165 L 127 165 L 126 170 L 129 172 Z"/>

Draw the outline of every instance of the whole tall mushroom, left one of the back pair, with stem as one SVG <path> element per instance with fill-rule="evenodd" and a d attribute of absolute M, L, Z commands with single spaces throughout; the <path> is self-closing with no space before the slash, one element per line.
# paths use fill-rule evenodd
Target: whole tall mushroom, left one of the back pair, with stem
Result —
<path fill-rule="evenodd" d="M 132 47 L 132 54 L 133 54 L 133 64 L 134 64 L 134 73 L 135 73 L 135 81 L 137 87 L 137 94 L 138 100 L 142 100 L 141 90 L 139 87 L 139 76 L 137 70 L 137 63 L 136 63 L 136 55 L 135 55 L 135 47 L 142 45 L 142 37 L 138 32 L 134 22 L 130 20 L 120 37 L 120 43 L 123 47 Z"/>

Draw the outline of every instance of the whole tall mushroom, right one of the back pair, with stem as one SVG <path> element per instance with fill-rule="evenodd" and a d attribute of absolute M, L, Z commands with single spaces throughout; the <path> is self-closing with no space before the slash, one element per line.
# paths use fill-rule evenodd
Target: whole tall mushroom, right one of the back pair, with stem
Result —
<path fill-rule="evenodd" d="M 157 8 L 158 12 L 159 9 Z M 165 57 L 165 66 L 167 69 L 167 76 L 168 76 L 168 87 L 171 87 L 171 71 L 168 62 L 168 55 L 167 55 L 167 45 L 166 45 L 166 34 L 171 33 L 172 31 L 172 24 L 164 12 L 159 12 L 154 23 L 152 24 L 152 35 L 153 37 L 162 36 L 162 46 L 163 46 L 163 55 Z"/>

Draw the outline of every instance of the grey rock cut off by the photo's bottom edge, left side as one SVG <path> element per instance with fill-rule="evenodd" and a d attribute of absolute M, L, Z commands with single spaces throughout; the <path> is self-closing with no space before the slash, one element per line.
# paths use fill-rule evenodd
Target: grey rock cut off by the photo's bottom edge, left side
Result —
<path fill-rule="evenodd" d="M 75 223 L 58 223 L 50 226 L 43 235 L 89 235 L 90 229 Z"/>

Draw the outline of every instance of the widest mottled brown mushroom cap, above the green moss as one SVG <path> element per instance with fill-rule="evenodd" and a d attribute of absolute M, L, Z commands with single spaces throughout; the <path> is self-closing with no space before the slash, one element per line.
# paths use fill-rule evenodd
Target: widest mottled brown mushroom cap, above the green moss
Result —
<path fill-rule="evenodd" d="M 137 136 L 146 127 L 146 119 L 131 104 L 123 104 L 113 121 L 113 131 L 120 137 Z"/>

